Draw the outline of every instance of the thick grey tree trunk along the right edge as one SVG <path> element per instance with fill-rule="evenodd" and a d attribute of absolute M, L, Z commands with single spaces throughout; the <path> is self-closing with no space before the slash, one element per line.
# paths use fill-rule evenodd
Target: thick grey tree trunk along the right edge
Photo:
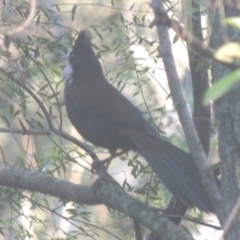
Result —
<path fill-rule="evenodd" d="M 230 3 L 231 2 L 231 3 Z M 211 18 L 211 47 L 217 49 L 219 46 L 230 41 L 240 41 L 240 31 L 236 28 L 227 27 L 222 24 L 224 17 L 239 16 L 237 6 L 233 1 L 225 1 L 224 6 L 214 6 L 210 10 Z M 227 3 L 232 4 L 227 5 Z M 218 7 L 218 8 L 217 8 Z M 223 16 L 222 14 L 225 14 Z M 212 64 L 212 80 L 229 74 L 231 69 L 217 63 Z M 230 211 L 239 197 L 240 189 L 240 88 L 234 89 L 218 100 L 214 105 L 215 118 L 217 119 L 219 156 L 221 159 L 221 186 L 222 209 L 224 223 Z M 238 240 L 240 236 L 240 214 L 237 213 L 226 236 L 226 240 Z"/>

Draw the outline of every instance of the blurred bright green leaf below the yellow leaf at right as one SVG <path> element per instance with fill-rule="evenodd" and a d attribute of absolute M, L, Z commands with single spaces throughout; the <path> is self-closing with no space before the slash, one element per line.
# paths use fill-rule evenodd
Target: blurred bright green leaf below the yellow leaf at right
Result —
<path fill-rule="evenodd" d="M 219 79 L 214 85 L 209 88 L 203 99 L 204 105 L 209 104 L 209 102 L 216 101 L 224 94 L 236 87 L 236 84 L 240 83 L 240 69 L 230 73 L 226 77 Z"/>

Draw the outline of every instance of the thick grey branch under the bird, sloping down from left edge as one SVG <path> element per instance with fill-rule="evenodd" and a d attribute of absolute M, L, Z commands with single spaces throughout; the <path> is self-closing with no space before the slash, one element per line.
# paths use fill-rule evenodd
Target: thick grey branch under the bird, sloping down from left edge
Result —
<path fill-rule="evenodd" d="M 44 173 L 18 168 L 0 171 L 0 185 L 49 194 L 78 204 L 106 206 L 118 210 L 156 232 L 165 240 L 193 240 L 193 238 L 161 216 L 156 210 L 135 200 L 117 185 L 101 182 L 99 189 L 56 179 Z"/>

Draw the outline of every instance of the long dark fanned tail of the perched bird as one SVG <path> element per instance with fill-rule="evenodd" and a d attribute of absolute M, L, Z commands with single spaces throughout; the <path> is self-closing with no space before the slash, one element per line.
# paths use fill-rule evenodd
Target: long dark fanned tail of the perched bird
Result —
<path fill-rule="evenodd" d="M 164 139 L 129 133 L 136 150 L 145 158 L 166 188 L 189 206 L 213 212 L 197 166 L 190 154 Z"/>

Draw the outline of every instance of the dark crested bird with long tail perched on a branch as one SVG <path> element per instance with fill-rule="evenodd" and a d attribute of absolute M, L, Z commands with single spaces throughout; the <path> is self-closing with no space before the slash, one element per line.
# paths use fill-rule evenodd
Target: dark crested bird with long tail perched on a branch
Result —
<path fill-rule="evenodd" d="M 80 31 L 63 71 L 65 107 L 80 135 L 114 156 L 138 152 L 165 187 L 189 207 L 214 212 L 193 157 L 159 136 L 104 76 L 91 34 Z"/>

